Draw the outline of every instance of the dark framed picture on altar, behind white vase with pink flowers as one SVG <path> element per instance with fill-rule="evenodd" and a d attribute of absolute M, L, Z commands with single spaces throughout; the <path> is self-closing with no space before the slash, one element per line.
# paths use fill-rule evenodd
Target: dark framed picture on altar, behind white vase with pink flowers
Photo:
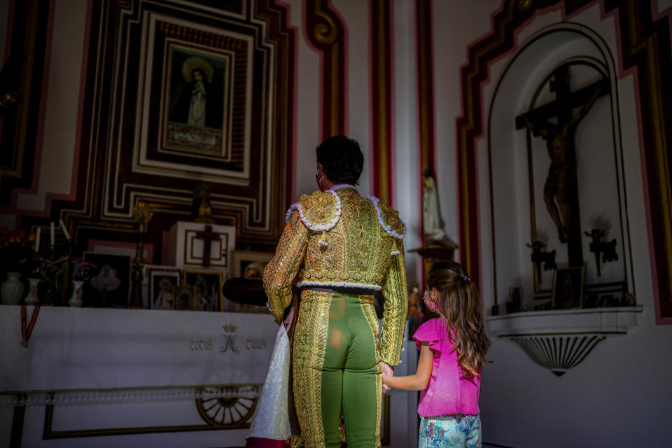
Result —
<path fill-rule="evenodd" d="M 96 265 L 82 286 L 85 307 L 128 308 L 131 290 L 131 257 L 85 252 L 84 260 Z"/>

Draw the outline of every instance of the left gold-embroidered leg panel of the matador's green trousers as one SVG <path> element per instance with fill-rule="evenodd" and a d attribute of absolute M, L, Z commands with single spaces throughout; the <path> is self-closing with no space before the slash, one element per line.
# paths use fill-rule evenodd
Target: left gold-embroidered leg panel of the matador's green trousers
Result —
<path fill-rule="evenodd" d="M 304 290 L 294 333 L 294 401 L 306 447 L 324 447 L 321 386 L 332 293 Z"/>

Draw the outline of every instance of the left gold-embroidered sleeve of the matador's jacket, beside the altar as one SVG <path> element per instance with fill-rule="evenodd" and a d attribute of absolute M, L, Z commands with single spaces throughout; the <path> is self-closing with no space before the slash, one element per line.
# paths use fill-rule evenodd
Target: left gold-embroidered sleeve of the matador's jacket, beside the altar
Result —
<path fill-rule="evenodd" d="M 292 302 L 292 281 L 304 258 L 307 236 L 308 229 L 294 211 L 282 232 L 275 256 L 264 269 L 268 305 L 277 323 L 282 322 L 285 308 Z"/>

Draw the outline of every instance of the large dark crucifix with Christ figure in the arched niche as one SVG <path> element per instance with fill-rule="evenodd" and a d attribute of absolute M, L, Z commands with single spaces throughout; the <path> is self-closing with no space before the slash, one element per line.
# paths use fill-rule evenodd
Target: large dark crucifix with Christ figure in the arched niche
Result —
<path fill-rule="evenodd" d="M 541 137 L 551 165 L 544 184 L 546 209 L 558 229 L 561 243 L 567 244 L 570 267 L 583 265 L 579 192 L 576 178 L 574 137 L 577 125 L 587 115 L 598 97 L 610 92 L 608 78 L 572 92 L 569 66 L 553 71 L 550 82 L 555 100 L 516 117 L 516 129 L 527 127 L 534 137 Z M 573 110 L 580 107 L 574 114 Z M 557 124 L 548 121 L 557 117 Z"/>

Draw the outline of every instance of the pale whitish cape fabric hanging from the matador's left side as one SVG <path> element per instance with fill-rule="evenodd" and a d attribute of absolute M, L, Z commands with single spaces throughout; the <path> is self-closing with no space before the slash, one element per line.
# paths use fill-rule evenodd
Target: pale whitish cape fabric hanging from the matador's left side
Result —
<path fill-rule="evenodd" d="M 248 439 L 260 437 L 287 440 L 290 437 L 291 428 L 287 410 L 289 361 L 289 338 L 284 325 L 280 325 L 255 416 L 247 433 Z"/>

